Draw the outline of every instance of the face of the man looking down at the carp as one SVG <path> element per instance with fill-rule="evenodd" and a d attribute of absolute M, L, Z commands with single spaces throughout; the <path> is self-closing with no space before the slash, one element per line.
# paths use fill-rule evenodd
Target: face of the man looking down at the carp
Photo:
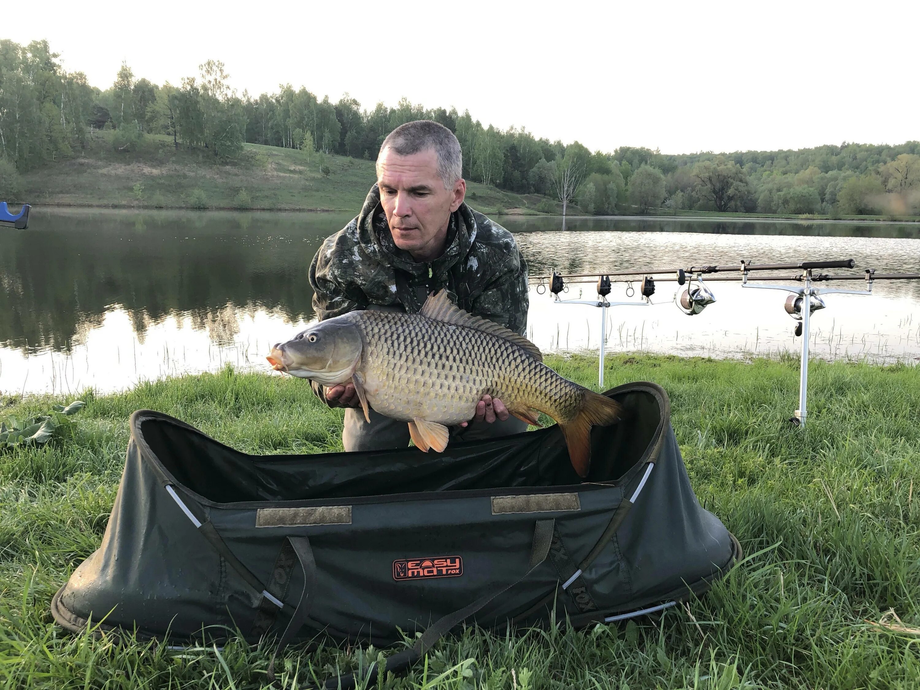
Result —
<path fill-rule="evenodd" d="M 463 203 L 466 182 L 444 189 L 434 149 L 398 155 L 386 147 L 377 158 L 377 186 L 393 241 L 420 261 L 443 253 L 451 213 Z"/>

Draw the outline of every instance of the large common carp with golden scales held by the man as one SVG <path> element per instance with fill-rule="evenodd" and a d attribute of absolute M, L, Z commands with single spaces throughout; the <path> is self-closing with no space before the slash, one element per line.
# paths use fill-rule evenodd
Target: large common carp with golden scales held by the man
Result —
<path fill-rule="evenodd" d="M 484 395 L 531 424 L 545 412 L 558 422 L 580 477 L 591 465 L 592 425 L 612 424 L 620 411 L 546 366 L 530 340 L 454 306 L 443 291 L 419 314 L 353 311 L 321 321 L 275 345 L 268 360 L 322 385 L 351 380 L 368 421 L 368 406 L 407 421 L 426 452 L 443 451 L 447 427 L 471 420 Z"/>

